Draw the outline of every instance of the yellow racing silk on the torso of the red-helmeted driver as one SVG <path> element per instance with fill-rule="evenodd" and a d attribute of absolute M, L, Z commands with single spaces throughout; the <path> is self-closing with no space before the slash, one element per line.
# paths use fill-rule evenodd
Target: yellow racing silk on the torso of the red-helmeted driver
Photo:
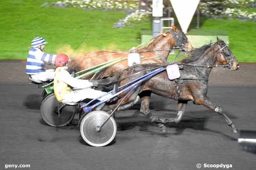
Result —
<path fill-rule="evenodd" d="M 65 97 L 72 91 L 69 85 L 60 79 L 61 74 L 65 70 L 66 70 L 65 67 L 58 67 L 55 70 L 53 89 L 54 89 L 54 94 L 59 102 L 65 99 Z"/>

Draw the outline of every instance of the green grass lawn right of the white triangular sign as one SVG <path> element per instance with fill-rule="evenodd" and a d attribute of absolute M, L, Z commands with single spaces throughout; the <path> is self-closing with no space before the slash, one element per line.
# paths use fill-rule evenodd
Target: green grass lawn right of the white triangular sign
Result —
<path fill-rule="evenodd" d="M 229 47 L 239 62 L 256 62 L 256 22 L 201 18 L 200 29 L 225 29 Z"/>

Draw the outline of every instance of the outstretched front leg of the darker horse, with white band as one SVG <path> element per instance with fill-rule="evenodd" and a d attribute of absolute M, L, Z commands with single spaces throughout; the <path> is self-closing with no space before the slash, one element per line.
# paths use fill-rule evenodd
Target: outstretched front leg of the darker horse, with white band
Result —
<path fill-rule="evenodd" d="M 202 100 L 202 101 L 200 101 L 200 100 Z M 195 100 L 195 102 L 197 103 L 196 100 Z M 224 111 L 221 109 L 221 107 L 219 107 L 216 104 L 214 104 L 211 101 L 211 99 L 209 99 L 208 97 L 204 97 L 203 99 L 199 99 L 198 104 L 202 104 L 206 108 L 208 108 L 210 110 L 214 110 L 215 112 L 219 113 L 223 117 L 223 119 L 226 121 L 228 126 L 231 126 L 231 131 L 233 133 L 238 133 L 239 132 L 239 130 L 234 125 L 234 123 L 227 117 L 227 115 L 224 113 Z"/>

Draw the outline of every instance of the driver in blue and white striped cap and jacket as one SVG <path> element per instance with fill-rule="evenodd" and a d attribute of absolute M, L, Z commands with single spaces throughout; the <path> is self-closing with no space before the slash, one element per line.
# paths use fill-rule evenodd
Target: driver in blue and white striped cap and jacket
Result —
<path fill-rule="evenodd" d="M 26 73 L 32 79 L 46 82 L 54 78 L 54 69 L 45 69 L 45 64 L 54 65 L 56 55 L 43 52 L 45 44 L 48 42 L 44 38 L 36 37 L 32 40 L 31 48 L 28 52 Z"/>

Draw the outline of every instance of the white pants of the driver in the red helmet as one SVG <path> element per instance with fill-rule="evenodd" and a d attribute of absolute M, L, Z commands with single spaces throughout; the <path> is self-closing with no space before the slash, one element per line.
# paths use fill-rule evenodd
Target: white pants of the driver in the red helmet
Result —
<path fill-rule="evenodd" d="M 82 90 L 75 90 L 71 91 L 65 99 L 62 100 L 62 102 L 70 102 L 70 103 L 76 103 L 79 101 L 82 101 L 83 99 L 95 99 L 101 95 L 106 94 L 106 92 L 100 91 L 100 90 L 94 90 L 91 88 L 86 88 Z M 104 99 L 112 96 L 112 94 L 105 95 L 101 97 L 100 101 L 103 101 Z"/>

